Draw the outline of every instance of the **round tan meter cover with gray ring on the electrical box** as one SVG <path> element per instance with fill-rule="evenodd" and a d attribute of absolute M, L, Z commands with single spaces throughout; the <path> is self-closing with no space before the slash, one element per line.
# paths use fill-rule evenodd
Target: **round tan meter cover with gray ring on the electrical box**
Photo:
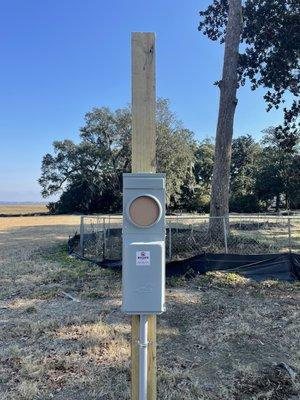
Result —
<path fill-rule="evenodd" d="M 141 228 L 152 226 L 161 217 L 160 204 L 152 196 L 139 196 L 129 206 L 129 217 Z"/>

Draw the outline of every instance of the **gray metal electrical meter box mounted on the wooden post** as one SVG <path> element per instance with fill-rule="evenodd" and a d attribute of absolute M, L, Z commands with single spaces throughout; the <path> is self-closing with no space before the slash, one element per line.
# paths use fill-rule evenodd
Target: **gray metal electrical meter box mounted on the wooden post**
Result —
<path fill-rule="evenodd" d="M 122 281 L 125 313 L 165 311 L 165 174 L 123 174 Z"/>

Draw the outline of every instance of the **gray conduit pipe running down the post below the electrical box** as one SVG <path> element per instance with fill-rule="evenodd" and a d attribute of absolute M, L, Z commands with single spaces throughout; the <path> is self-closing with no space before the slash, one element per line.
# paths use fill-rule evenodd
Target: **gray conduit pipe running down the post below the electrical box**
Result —
<path fill-rule="evenodd" d="M 139 339 L 139 400 L 147 400 L 148 317 L 140 315 Z"/>

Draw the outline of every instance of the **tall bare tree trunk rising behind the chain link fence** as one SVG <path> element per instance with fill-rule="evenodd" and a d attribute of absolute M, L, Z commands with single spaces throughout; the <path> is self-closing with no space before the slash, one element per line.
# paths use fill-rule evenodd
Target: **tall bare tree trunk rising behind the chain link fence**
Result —
<path fill-rule="evenodd" d="M 229 212 L 231 143 L 234 113 L 237 105 L 237 68 L 241 28 L 242 2 L 241 0 L 229 0 L 223 73 L 219 84 L 220 102 L 210 203 L 211 217 L 226 216 Z M 214 227 L 219 230 L 217 219 L 210 220 L 211 233 L 215 231 Z"/>

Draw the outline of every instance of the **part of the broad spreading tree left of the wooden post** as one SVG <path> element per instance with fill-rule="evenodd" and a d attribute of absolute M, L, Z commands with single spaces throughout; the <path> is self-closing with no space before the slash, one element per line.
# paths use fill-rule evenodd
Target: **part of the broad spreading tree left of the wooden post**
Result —
<path fill-rule="evenodd" d="M 100 204 L 103 211 L 120 209 L 121 172 L 129 170 L 130 122 L 127 109 L 94 109 L 85 116 L 79 144 L 53 143 L 54 155 L 44 156 L 39 179 L 43 197 L 62 193 L 52 209 L 94 212 Z"/>

